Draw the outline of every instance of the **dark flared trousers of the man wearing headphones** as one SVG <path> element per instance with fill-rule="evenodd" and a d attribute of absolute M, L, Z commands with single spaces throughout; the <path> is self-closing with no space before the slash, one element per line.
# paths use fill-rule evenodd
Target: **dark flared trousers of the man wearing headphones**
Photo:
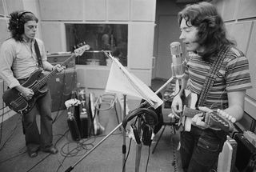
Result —
<path fill-rule="evenodd" d="M 40 114 L 40 134 L 36 122 L 36 115 Z M 52 146 L 53 132 L 51 117 L 50 91 L 37 99 L 34 108 L 23 117 L 23 129 L 28 150 L 36 151 L 41 148 Z"/>

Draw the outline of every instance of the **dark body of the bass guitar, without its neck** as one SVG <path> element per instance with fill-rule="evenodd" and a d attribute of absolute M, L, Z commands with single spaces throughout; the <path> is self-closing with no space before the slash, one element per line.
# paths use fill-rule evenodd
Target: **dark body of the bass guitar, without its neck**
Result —
<path fill-rule="evenodd" d="M 34 90 L 33 88 L 37 86 L 40 75 L 42 75 L 42 70 L 34 71 L 22 86 Z M 48 90 L 42 86 L 38 90 L 34 90 L 34 96 L 30 100 L 26 100 L 18 90 L 12 88 L 4 92 L 2 99 L 11 110 L 14 110 L 18 114 L 27 114 L 32 110 L 37 99 L 45 95 L 47 91 Z"/>

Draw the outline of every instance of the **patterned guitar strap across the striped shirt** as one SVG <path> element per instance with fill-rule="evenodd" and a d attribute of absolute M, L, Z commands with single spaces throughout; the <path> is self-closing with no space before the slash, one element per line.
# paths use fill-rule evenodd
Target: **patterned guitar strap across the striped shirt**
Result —
<path fill-rule="evenodd" d="M 206 76 L 206 81 L 204 82 L 202 90 L 199 94 L 198 106 L 202 106 L 203 102 L 206 99 L 206 95 L 210 91 L 211 87 L 214 85 L 214 81 L 217 78 L 217 72 L 218 70 L 220 70 L 222 62 L 224 61 L 224 57 L 226 56 L 228 50 L 230 50 L 230 46 L 224 46 L 222 50 L 218 53 L 217 59 L 210 66 L 209 74 Z"/>

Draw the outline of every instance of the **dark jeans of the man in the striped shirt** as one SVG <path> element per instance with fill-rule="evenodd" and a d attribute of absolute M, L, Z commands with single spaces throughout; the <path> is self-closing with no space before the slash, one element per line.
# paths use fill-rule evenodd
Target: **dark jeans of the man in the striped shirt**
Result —
<path fill-rule="evenodd" d="M 225 141 L 226 134 L 222 130 L 202 130 L 191 126 L 190 132 L 182 131 L 180 153 L 184 172 L 208 172 L 215 169 Z"/>

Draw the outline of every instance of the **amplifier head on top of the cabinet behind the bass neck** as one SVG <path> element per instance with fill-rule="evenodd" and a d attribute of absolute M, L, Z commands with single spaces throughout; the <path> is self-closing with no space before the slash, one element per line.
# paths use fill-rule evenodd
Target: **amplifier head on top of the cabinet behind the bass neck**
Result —
<path fill-rule="evenodd" d="M 50 54 L 47 56 L 47 61 L 52 65 L 62 64 L 67 58 L 70 58 L 72 54 Z M 75 58 L 67 63 L 66 68 L 75 66 Z"/>

